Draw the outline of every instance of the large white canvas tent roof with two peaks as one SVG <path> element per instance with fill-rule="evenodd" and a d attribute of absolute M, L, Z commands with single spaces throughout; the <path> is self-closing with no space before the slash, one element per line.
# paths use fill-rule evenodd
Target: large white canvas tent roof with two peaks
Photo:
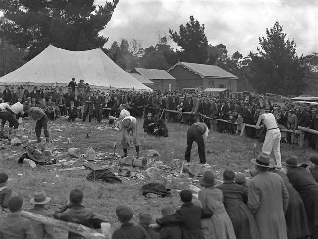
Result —
<path fill-rule="evenodd" d="M 0 84 L 68 86 L 72 78 L 95 89 L 149 90 L 121 69 L 100 48 L 69 51 L 49 45 L 17 70 L 0 78 Z"/>

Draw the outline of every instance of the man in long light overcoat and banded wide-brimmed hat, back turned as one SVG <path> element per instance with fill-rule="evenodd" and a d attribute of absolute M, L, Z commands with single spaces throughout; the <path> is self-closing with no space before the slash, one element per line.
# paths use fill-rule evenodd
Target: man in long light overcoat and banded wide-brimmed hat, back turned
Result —
<path fill-rule="evenodd" d="M 254 177 L 250 181 L 248 208 L 258 225 L 260 239 L 287 239 L 285 212 L 288 207 L 288 191 L 283 179 L 268 172 L 271 156 L 261 152 L 256 159 Z"/>

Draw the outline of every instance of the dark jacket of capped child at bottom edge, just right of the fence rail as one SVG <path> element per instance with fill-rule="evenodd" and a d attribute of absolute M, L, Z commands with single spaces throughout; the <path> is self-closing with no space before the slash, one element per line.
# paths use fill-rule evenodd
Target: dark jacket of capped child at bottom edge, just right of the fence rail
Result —
<path fill-rule="evenodd" d="M 143 227 L 127 222 L 114 231 L 112 239 L 150 239 L 150 237 Z"/>

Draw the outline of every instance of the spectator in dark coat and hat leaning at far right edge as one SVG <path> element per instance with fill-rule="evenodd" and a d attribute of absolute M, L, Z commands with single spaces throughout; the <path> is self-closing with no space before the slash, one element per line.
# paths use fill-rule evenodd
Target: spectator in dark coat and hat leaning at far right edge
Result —
<path fill-rule="evenodd" d="M 287 157 L 284 162 L 287 169 L 287 177 L 295 190 L 299 193 L 308 220 L 311 238 L 318 238 L 318 183 L 313 175 L 305 168 L 300 167 L 298 157 L 293 155 Z"/>

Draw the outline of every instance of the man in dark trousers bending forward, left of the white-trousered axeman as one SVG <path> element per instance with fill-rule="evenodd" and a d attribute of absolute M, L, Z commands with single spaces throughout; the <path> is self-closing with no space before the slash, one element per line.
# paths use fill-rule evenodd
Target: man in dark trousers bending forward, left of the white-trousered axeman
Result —
<path fill-rule="evenodd" d="M 184 160 L 186 162 L 190 163 L 192 144 L 193 144 L 193 141 L 195 141 L 198 144 L 200 163 L 203 164 L 203 166 L 208 165 L 206 163 L 206 158 L 205 158 L 205 145 L 206 145 L 208 134 L 209 134 L 209 129 L 205 123 L 198 122 L 191 125 L 191 127 L 188 129 L 186 133 L 187 148 L 185 150 L 185 156 L 184 156 Z"/>

